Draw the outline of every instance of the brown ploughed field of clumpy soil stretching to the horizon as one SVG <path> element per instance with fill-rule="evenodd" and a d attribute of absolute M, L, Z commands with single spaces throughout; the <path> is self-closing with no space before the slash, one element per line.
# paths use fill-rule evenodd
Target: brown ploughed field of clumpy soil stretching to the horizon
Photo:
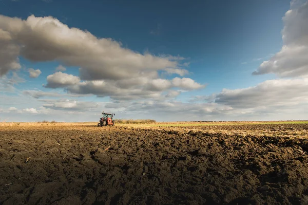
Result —
<path fill-rule="evenodd" d="M 0 204 L 308 204 L 308 124 L 0 125 Z"/>

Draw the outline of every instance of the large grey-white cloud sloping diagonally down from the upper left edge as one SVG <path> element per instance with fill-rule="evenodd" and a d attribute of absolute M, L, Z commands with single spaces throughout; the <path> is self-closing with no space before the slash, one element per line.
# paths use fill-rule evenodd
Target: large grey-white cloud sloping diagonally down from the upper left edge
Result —
<path fill-rule="evenodd" d="M 4 58 L 2 73 L 18 66 L 17 57 L 34 61 L 59 61 L 80 67 L 82 80 L 126 79 L 147 76 L 148 72 L 177 68 L 182 57 L 158 57 L 123 48 L 112 39 L 99 39 L 88 31 L 70 28 L 56 18 L 27 20 L 0 15 L 1 49 L 13 49 Z M 2 61 L 1 61 L 2 62 Z M 2 67 L 3 67 L 2 66 Z"/>

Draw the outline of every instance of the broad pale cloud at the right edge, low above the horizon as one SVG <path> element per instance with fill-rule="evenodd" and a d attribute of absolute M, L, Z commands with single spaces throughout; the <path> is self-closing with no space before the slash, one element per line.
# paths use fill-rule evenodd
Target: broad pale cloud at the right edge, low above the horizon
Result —
<path fill-rule="evenodd" d="M 243 89 L 223 89 L 216 103 L 234 108 L 287 107 L 308 102 L 308 79 L 278 79 Z"/>

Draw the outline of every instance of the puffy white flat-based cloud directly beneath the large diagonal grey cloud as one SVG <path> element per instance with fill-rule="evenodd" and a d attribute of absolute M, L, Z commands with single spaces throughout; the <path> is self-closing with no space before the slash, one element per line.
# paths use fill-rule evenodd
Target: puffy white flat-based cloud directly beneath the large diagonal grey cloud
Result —
<path fill-rule="evenodd" d="M 58 86 L 64 87 L 60 84 Z M 163 91 L 168 91 L 175 87 L 192 90 L 204 88 L 204 85 L 189 78 L 174 78 L 172 80 L 137 78 L 124 82 L 83 81 L 66 86 L 66 90 L 72 94 L 93 94 L 99 97 L 110 96 L 110 98 L 117 100 L 134 100 L 139 98 L 158 99 L 161 98 Z"/>

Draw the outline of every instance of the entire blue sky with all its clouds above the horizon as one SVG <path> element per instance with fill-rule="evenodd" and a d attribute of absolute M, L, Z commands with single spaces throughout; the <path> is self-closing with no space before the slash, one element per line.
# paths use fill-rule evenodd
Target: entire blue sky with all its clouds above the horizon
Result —
<path fill-rule="evenodd" d="M 158 121 L 162 114 L 183 121 L 184 111 L 187 120 L 305 119 L 306 10 L 301 0 L 0 0 L 0 36 L 16 46 L 14 55 L 0 57 L 0 115 L 95 121 L 108 109 Z M 301 57 L 296 62 L 293 53 Z M 29 68 L 40 74 L 30 78 Z"/>

